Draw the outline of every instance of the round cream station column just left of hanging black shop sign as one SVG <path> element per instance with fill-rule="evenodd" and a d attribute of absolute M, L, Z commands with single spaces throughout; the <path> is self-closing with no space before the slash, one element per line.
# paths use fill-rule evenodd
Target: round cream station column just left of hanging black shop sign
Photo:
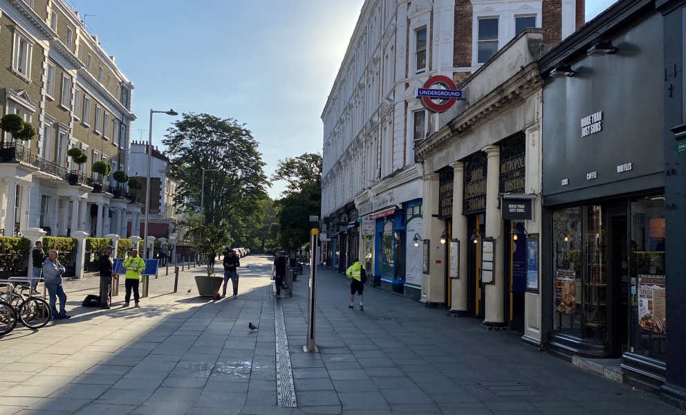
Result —
<path fill-rule="evenodd" d="M 493 281 L 485 284 L 485 319 L 483 326 L 504 327 L 505 324 L 505 264 L 503 221 L 499 209 L 500 178 L 500 147 L 488 145 L 481 149 L 488 160 L 488 174 L 486 176 L 486 229 L 485 238 L 494 241 Z M 487 252 L 483 252 L 485 256 Z"/>

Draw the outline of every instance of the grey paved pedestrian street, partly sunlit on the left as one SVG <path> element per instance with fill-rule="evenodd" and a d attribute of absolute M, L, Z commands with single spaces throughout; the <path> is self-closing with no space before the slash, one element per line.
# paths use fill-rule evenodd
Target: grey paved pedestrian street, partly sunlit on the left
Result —
<path fill-rule="evenodd" d="M 0 415 L 683 414 L 479 320 L 369 287 L 364 312 L 349 310 L 349 279 L 323 268 L 305 353 L 308 268 L 274 299 L 270 258 L 241 265 L 239 297 L 216 302 L 197 296 L 204 267 L 181 272 L 178 293 L 163 270 L 141 308 L 120 308 L 123 284 L 111 310 L 83 308 L 98 278 L 65 282 L 70 320 L 0 339 Z M 281 309 L 297 407 L 277 406 Z"/>

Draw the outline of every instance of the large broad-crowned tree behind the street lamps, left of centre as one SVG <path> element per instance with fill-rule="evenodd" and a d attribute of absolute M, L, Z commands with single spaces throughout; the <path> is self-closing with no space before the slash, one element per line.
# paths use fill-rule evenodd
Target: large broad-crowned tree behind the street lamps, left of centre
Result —
<path fill-rule="evenodd" d="M 259 207 L 270 183 L 263 172 L 259 144 L 245 124 L 205 113 L 184 113 L 167 129 L 163 144 L 170 174 L 180 181 L 175 196 L 180 212 L 199 210 L 205 223 L 223 225 L 232 236 L 243 232 L 252 216 L 260 217 Z M 205 206 L 201 207 L 203 169 L 216 171 L 205 172 Z"/>

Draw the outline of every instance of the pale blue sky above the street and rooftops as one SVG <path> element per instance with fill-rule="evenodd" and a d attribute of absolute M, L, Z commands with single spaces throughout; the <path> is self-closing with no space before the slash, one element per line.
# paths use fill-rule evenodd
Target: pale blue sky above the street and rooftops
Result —
<path fill-rule="evenodd" d="M 265 172 L 322 151 L 321 114 L 364 0 L 67 0 L 133 82 L 131 140 L 149 110 L 246 123 Z M 614 0 L 586 0 L 586 13 Z M 164 5 L 164 6 L 163 6 Z M 161 146 L 176 118 L 154 116 Z M 145 131 L 138 131 L 145 130 Z M 279 197 L 285 183 L 268 191 Z"/>

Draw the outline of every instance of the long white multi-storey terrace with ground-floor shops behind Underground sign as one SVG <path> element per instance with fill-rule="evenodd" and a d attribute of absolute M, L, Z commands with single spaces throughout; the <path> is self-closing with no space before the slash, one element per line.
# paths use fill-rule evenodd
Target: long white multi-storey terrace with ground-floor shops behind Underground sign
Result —
<path fill-rule="evenodd" d="M 525 28 L 557 44 L 583 17 L 582 0 L 365 1 L 322 112 L 326 265 L 344 270 L 359 257 L 382 288 L 420 299 L 421 261 L 410 258 L 423 225 L 415 144 L 440 121 L 416 89 L 433 75 L 461 84 Z"/>

